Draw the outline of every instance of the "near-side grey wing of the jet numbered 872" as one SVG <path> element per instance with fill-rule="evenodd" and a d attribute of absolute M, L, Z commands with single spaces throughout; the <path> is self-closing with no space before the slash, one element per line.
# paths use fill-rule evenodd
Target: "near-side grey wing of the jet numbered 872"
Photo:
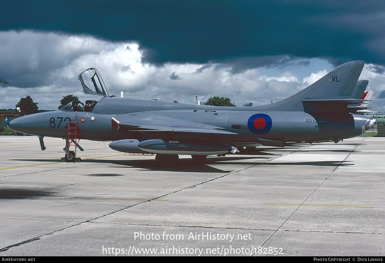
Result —
<path fill-rule="evenodd" d="M 119 117 L 117 117 L 119 118 Z M 141 132 L 191 132 L 191 133 L 214 133 L 214 134 L 237 134 L 228 132 L 224 128 L 207 125 L 199 122 L 180 120 L 148 113 L 135 113 L 129 115 L 129 120 L 120 122 L 112 117 L 112 124 L 116 130 Z"/>

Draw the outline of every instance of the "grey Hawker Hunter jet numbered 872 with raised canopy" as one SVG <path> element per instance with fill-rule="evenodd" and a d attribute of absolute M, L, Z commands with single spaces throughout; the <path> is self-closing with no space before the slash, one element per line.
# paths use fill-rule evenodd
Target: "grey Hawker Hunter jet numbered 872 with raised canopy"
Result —
<path fill-rule="evenodd" d="M 203 161 L 208 155 L 235 153 L 257 145 L 284 147 L 363 135 L 375 120 L 358 115 L 367 80 L 358 81 L 365 62 L 344 63 L 297 94 L 276 103 L 214 107 L 109 96 L 100 74 L 89 68 L 79 75 L 83 91 L 101 95 L 84 111 L 73 101 L 57 111 L 35 113 L 10 122 L 21 133 L 65 138 L 63 161 L 76 161 L 79 139 L 112 141 L 127 153 L 154 153 L 171 165 L 178 155 Z M 250 104 L 248 104 L 250 105 Z"/>

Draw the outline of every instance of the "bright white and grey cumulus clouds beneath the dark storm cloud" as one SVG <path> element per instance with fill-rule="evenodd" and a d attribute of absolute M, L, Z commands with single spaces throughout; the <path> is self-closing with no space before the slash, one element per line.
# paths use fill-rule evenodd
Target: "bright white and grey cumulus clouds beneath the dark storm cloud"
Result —
<path fill-rule="evenodd" d="M 123 91 L 125 97 L 181 103 L 195 103 L 195 95 L 202 102 L 224 96 L 238 106 L 281 100 L 327 73 L 306 72 L 309 69 L 304 65 L 301 69 L 308 76 L 300 82 L 290 71 L 261 75 L 260 65 L 245 70 L 234 70 L 231 63 L 220 62 L 154 65 L 143 62 L 144 51 L 135 41 L 113 42 L 90 35 L 32 30 L 0 31 L 0 57 L 0 77 L 10 82 L 0 84 L 0 108 L 15 108 L 27 95 L 39 103 L 40 109 L 57 109 L 60 99 L 68 94 L 83 101 L 99 99 L 85 95 L 78 80 L 79 73 L 89 67 L 99 70 L 110 95 L 120 96 Z M 363 71 L 374 97 L 385 89 L 385 75 L 375 69 L 373 65 Z"/>

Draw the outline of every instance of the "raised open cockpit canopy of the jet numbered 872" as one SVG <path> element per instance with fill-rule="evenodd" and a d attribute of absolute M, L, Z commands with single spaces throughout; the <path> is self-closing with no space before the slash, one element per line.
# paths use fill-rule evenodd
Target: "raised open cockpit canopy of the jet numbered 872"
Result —
<path fill-rule="evenodd" d="M 79 75 L 80 83 L 82 83 L 85 94 L 99 95 L 108 97 L 107 89 L 100 73 L 96 68 L 87 68 Z"/>

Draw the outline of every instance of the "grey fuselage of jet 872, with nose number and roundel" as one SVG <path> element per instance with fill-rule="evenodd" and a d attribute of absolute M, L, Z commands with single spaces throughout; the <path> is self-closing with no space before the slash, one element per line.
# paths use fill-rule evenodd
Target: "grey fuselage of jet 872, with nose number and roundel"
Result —
<path fill-rule="evenodd" d="M 110 103 L 103 105 L 103 100 Z M 135 109 L 131 104 L 127 113 L 105 114 L 99 112 L 112 112 L 111 106 L 115 105 L 115 111 L 122 111 L 119 103 L 111 103 L 120 98 L 103 98 L 95 106 L 92 112 L 77 112 L 79 137 L 85 140 L 122 140 L 134 138 L 145 140 L 148 138 L 173 138 L 196 140 L 218 140 L 218 135 L 178 133 L 160 133 L 156 131 L 130 131 L 117 130 L 111 119 L 114 117 L 120 122 L 130 122 L 136 112 L 143 112 L 145 109 Z M 133 99 L 136 101 L 136 99 Z M 121 101 L 121 100 L 120 100 Z M 132 100 L 127 99 L 127 102 Z M 143 103 L 154 103 L 148 100 L 141 100 Z M 159 103 L 159 102 L 158 102 Z M 162 103 L 164 104 L 164 103 Z M 170 103 L 171 104 L 171 103 Z M 313 116 L 306 112 L 277 112 L 277 111 L 254 111 L 246 110 L 246 107 L 209 107 L 174 103 L 177 108 L 167 110 L 147 110 L 146 113 L 171 117 L 175 120 L 189 120 L 208 125 L 221 127 L 226 131 L 237 134 L 223 134 L 220 141 L 223 143 L 232 142 L 257 142 L 258 139 L 283 141 L 283 142 L 304 142 L 304 141 L 325 141 L 342 140 L 360 136 L 365 133 L 365 125 L 370 118 L 352 113 L 331 114 Z M 179 104 L 179 105 L 176 105 Z M 171 104 L 174 106 L 173 104 Z M 106 109 L 104 110 L 104 107 Z M 164 105 L 162 108 L 166 107 Z M 229 108 L 231 110 L 225 110 Z M 256 108 L 256 107 L 247 107 Z M 136 111 L 135 111 L 136 110 Z M 35 113 L 32 115 L 17 118 L 11 122 L 11 127 L 18 132 L 38 136 L 50 136 L 66 138 L 68 134 L 68 122 L 74 122 L 76 112 L 56 110 L 51 112 Z"/>

